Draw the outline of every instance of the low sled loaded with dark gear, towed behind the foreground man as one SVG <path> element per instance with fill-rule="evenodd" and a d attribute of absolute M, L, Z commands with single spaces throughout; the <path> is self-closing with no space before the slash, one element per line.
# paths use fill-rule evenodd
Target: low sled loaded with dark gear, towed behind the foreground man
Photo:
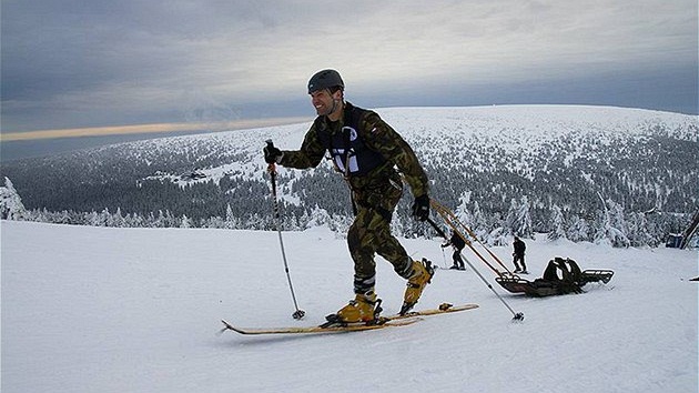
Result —
<path fill-rule="evenodd" d="M 559 275 L 560 273 L 560 275 Z M 516 274 L 502 275 L 495 281 L 511 293 L 525 293 L 530 296 L 550 296 L 567 293 L 582 293 L 582 286 L 591 282 L 604 284 L 611 280 L 611 270 L 580 271 L 571 259 L 554 258 L 548 262 L 544 276 L 534 281 L 524 280 Z"/>

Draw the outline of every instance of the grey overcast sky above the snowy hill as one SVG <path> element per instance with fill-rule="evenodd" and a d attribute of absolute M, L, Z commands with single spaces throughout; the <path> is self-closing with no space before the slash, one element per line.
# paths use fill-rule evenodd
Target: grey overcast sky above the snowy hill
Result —
<path fill-rule="evenodd" d="M 2 0 L 2 132 L 584 103 L 697 113 L 697 0 Z"/>

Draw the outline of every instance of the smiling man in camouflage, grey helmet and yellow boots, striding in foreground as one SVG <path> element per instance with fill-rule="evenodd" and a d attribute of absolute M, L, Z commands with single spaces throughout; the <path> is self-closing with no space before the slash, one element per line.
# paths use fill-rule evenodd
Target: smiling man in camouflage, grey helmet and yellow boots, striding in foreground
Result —
<path fill-rule="evenodd" d="M 405 140 L 375 112 L 345 101 L 344 88 L 337 71 L 315 73 L 308 81 L 308 94 L 317 118 L 301 149 L 281 151 L 269 144 L 264 148 L 264 158 L 267 163 L 307 169 L 317 167 L 327 151 L 328 160 L 344 175 L 355 213 L 347 232 L 354 260 L 355 299 L 336 314 L 328 315 L 328 321 L 334 318 L 343 323 L 368 322 L 375 318 L 377 302 L 375 254 L 391 262 L 395 272 L 408 281 L 401 313 L 417 303 L 434 274 L 430 266 L 413 261 L 391 234 L 391 220 L 403 193 L 403 180 L 415 196 L 412 210 L 419 221 L 426 221 L 429 215 L 428 182 Z"/>

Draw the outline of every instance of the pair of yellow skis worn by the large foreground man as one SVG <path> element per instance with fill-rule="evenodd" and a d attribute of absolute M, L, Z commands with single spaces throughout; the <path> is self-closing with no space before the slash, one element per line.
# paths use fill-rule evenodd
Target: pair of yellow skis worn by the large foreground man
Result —
<path fill-rule="evenodd" d="M 415 322 L 419 322 L 423 319 L 421 316 L 429 316 L 437 314 L 445 314 L 465 310 L 473 310 L 478 308 L 478 304 L 460 304 L 452 305 L 444 303 L 437 309 L 427 309 L 421 311 L 412 311 L 404 315 L 394 314 L 387 316 L 379 316 L 375 323 L 351 323 L 346 325 L 332 325 L 332 326 L 290 326 L 290 328 L 239 328 L 222 320 L 224 326 L 221 332 L 226 330 L 234 331 L 244 335 L 261 335 L 261 334 L 312 334 L 312 333 L 343 333 L 343 332 L 361 332 L 366 330 L 378 330 L 384 328 L 397 328 L 411 325 Z"/>

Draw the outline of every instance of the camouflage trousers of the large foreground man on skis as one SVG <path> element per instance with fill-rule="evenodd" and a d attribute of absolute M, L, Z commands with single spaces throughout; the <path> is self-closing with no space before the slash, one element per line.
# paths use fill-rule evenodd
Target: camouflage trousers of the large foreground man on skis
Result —
<path fill-rule="evenodd" d="M 354 260 L 354 292 L 366 293 L 376 280 L 375 254 L 393 264 L 406 278 L 412 260 L 398 240 L 391 234 L 391 216 L 403 193 L 398 184 L 355 195 L 356 216 L 347 232 L 347 244 Z"/>

